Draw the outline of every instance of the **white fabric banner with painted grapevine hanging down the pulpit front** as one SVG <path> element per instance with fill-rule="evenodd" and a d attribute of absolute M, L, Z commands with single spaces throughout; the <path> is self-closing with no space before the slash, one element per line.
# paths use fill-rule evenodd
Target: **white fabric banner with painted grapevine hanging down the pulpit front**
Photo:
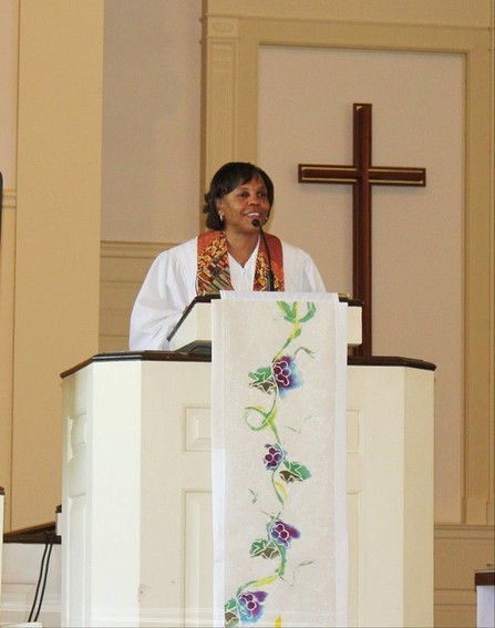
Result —
<path fill-rule="evenodd" d="M 347 624 L 347 305 L 213 307 L 214 624 Z"/>

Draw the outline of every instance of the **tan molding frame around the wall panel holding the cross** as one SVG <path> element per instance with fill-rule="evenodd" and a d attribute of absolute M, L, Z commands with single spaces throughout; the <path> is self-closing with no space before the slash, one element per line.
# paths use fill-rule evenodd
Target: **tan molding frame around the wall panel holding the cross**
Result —
<path fill-rule="evenodd" d="M 203 181 L 208 181 L 218 163 L 235 159 L 241 147 L 243 159 L 257 161 L 258 132 L 258 54 L 261 47 L 321 47 L 328 49 L 354 49 L 370 51 L 432 52 L 461 54 L 465 63 L 465 212 L 464 212 L 464 453 L 463 491 L 460 511 L 470 524 L 493 523 L 494 492 L 494 243 L 493 243 L 493 33 L 486 27 L 453 27 L 450 18 L 445 24 L 437 13 L 430 24 L 390 23 L 383 12 L 383 23 L 375 21 L 333 21 L 318 19 L 321 3 L 305 3 L 306 14 L 312 19 L 295 19 L 290 7 L 279 6 L 277 18 L 268 10 L 268 17 L 254 16 L 252 7 L 246 8 L 227 0 L 205 0 L 204 4 L 204 107 L 207 112 L 202 146 Z M 488 4 L 486 6 L 488 7 Z M 461 10 L 461 6 L 457 7 Z M 293 9 L 293 7 L 292 7 Z M 293 9 L 296 10 L 296 9 Z M 262 16 L 261 6 L 256 11 Z M 267 13 L 265 11 L 265 13 Z M 328 13 L 322 13 L 323 16 Z M 233 80 L 221 87 L 214 81 L 210 59 L 216 37 L 208 23 L 217 18 L 238 20 L 236 31 L 237 55 L 231 70 Z M 479 17 L 479 16 L 478 16 Z M 487 17 L 486 19 L 489 19 Z M 493 18 L 492 18 L 493 19 Z M 427 20 L 425 20 L 427 21 Z M 493 29 L 493 23 L 492 23 Z M 234 80 L 234 76 L 238 80 Z M 226 90 L 230 90 L 230 92 Z M 229 111 L 229 106 L 234 106 Z M 220 132 L 223 116 L 236 130 L 235 141 L 226 141 Z M 233 132 L 234 133 L 234 132 Z M 216 144 L 215 161 L 210 158 L 212 140 Z M 206 156 L 205 156 L 206 155 Z"/>

